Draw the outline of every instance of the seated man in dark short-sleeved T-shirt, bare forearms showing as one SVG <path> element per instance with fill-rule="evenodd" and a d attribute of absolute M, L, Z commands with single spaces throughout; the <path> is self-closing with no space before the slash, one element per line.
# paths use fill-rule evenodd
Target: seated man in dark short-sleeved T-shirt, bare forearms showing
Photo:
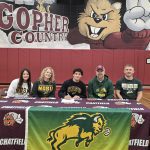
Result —
<path fill-rule="evenodd" d="M 130 64 L 124 67 L 124 77 L 116 83 L 116 96 L 119 99 L 139 101 L 142 98 L 142 84 L 134 78 L 134 67 Z"/>

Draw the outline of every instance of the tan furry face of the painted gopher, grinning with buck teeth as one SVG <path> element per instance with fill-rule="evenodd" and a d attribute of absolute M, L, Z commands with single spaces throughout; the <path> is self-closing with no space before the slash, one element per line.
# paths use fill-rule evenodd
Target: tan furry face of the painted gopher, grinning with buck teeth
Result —
<path fill-rule="evenodd" d="M 121 3 L 108 0 L 89 0 L 78 18 L 79 32 L 92 40 L 104 40 L 113 32 L 120 31 Z"/>

